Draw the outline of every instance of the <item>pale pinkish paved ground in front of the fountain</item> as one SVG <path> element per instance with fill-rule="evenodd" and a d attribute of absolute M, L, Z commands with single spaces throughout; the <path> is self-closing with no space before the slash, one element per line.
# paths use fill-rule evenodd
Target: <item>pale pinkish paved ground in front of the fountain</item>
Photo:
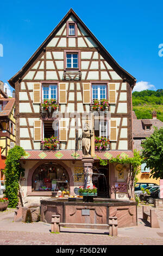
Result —
<path fill-rule="evenodd" d="M 149 206 L 151 208 L 152 206 Z M 61 228 L 51 233 L 51 224 L 13 222 L 14 209 L 0 212 L 0 245 L 163 245 L 163 208 L 154 208 L 160 228 L 148 227 L 142 221 L 142 206 L 137 208 L 135 227 L 118 228 L 118 236 L 107 230 Z"/>

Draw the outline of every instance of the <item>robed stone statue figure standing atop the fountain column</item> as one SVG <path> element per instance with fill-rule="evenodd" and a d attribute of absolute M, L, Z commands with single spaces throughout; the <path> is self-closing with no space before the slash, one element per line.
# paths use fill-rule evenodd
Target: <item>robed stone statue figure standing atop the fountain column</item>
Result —
<path fill-rule="evenodd" d="M 90 131 L 90 126 L 88 123 L 85 123 L 84 131 L 82 132 L 82 150 L 84 156 L 90 156 L 91 136 L 93 136 L 93 133 Z"/>

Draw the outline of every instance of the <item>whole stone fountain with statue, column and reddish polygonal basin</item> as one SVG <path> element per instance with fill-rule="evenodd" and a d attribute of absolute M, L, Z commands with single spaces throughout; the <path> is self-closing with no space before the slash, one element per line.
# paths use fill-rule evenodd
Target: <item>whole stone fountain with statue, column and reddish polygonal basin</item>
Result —
<path fill-rule="evenodd" d="M 82 135 L 84 188 L 93 187 L 94 142 L 93 132 L 88 126 L 85 126 Z M 90 145 L 92 146 L 91 154 Z M 68 200 L 68 198 L 51 197 L 40 200 L 40 203 L 41 221 L 47 223 L 52 222 L 52 215 L 58 215 L 60 222 L 64 223 L 65 227 L 68 227 L 66 223 L 85 223 L 89 227 L 89 224 L 108 224 L 109 218 L 112 216 L 117 217 L 118 228 L 137 225 L 137 203 L 131 200 L 93 197 Z"/>

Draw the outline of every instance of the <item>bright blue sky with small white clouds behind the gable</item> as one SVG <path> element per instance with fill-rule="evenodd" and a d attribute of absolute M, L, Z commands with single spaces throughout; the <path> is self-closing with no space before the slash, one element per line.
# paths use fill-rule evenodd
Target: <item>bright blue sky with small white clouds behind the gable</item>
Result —
<path fill-rule="evenodd" d="M 1 1 L 0 80 L 14 76 L 72 8 L 136 80 L 134 90 L 163 89 L 162 1 Z"/>

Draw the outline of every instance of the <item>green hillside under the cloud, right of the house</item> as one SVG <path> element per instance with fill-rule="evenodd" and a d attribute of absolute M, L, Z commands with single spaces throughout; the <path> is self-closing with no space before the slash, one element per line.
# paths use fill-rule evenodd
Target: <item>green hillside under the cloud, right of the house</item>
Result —
<path fill-rule="evenodd" d="M 133 111 L 137 119 L 152 119 L 152 112 L 163 122 L 163 89 L 143 90 L 133 93 Z"/>

